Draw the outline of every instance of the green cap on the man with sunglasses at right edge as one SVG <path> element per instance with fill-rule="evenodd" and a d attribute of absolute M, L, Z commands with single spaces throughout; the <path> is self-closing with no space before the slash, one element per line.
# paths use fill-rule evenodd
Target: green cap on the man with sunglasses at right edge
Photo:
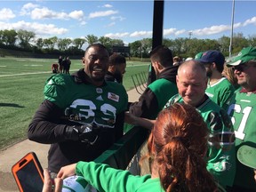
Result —
<path fill-rule="evenodd" d="M 228 62 L 228 66 L 238 66 L 250 60 L 256 60 L 256 47 L 246 47 L 235 58 Z"/>

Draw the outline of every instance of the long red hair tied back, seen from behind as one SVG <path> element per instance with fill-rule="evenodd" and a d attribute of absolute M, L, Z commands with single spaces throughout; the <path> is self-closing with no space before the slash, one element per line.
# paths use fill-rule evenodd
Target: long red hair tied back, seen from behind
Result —
<path fill-rule="evenodd" d="M 207 125 L 196 108 L 175 103 L 159 113 L 148 151 L 165 191 L 217 190 L 204 161 L 207 139 Z"/>

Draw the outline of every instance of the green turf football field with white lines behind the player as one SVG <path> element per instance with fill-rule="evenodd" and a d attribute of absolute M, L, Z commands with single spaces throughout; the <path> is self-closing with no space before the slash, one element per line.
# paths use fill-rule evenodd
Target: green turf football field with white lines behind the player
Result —
<path fill-rule="evenodd" d="M 71 73 L 83 68 L 81 60 L 71 61 Z M 0 149 L 27 138 L 28 124 L 44 100 L 44 82 L 52 76 L 53 62 L 57 59 L 0 58 Z M 132 76 L 136 82 L 146 80 L 148 65 L 127 61 L 126 91 L 134 87 Z"/>

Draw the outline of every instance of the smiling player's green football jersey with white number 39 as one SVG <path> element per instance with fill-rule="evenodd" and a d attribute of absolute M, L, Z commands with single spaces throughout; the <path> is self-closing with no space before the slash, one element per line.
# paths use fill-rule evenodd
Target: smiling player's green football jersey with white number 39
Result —
<path fill-rule="evenodd" d="M 100 87 L 76 84 L 74 77 L 56 75 L 48 79 L 44 98 L 63 108 L 70 122 L 114 128 L 116 115 L 127 108 L 128 96 L 121 84 L 107 82 Z"/>

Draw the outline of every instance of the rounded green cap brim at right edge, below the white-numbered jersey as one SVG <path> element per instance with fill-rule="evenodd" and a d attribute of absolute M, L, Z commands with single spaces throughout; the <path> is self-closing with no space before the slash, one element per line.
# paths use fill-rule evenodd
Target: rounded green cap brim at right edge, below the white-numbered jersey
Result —
<path fill-rule="evenodd" d="M 237 150 L 237 159 L 241 164 L 256 169 L 256 148 L 243 145 Z"/>

